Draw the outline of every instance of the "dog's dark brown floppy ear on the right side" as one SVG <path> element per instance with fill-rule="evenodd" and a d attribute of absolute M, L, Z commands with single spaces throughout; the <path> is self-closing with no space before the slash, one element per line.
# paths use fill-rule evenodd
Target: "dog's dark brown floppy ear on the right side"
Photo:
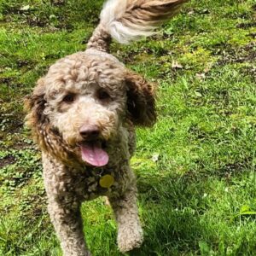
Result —
<path fill-rule="evenodd" d="M 134 125 L 151 126 L 156 121 L 155 88 L 137 73 L 127 71 L 125 74 L 127 86 L 128 118 Z"/>

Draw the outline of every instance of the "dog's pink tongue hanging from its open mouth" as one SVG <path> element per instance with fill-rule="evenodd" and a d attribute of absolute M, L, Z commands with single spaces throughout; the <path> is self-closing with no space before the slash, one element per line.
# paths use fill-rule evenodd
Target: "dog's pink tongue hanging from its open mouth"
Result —
<path fill-rule="evenodd" d="M 108 164 L 108 154 L 98 143 L 88 143 L 80 146 L 82 159 L 91 166 L 106 166 Z"/>

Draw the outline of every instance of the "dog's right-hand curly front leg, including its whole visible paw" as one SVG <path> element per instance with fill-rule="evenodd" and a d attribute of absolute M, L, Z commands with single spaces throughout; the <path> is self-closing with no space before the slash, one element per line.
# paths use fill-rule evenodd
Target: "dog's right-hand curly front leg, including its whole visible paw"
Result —
<path fill-rule="evenodd" d="M 118 224 L 118 246 L 122 253 L 140 247 L 143 230 L 137 212 L 137 188 L 131 185 L 125 194 L 108 198 Z"/>

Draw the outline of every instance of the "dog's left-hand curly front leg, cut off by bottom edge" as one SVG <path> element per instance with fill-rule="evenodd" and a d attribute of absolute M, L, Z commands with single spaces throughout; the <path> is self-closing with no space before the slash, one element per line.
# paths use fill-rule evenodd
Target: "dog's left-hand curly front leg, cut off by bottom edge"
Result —
<path fill-rule="evenodd" d="M 49 216 L 61 241 L 64 256 L 89 256 L 83 233 L 79 206 L 69 207 L 56 201 L 49 201 Z"/>

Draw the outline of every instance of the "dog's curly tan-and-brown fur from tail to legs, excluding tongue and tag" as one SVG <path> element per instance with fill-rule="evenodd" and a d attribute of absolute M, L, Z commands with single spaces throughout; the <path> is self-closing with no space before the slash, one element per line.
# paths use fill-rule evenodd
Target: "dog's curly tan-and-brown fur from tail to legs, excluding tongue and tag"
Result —
<path fill-rule="evenodd" d="M 108 1 L 87 49 L 49 67 L 26 102 L 27 124 L 42 150 L 49 215 L 66 256 L 90 255 L 79 207 L 99 195 L 108 196 L 113 208 L 119 250 L 127 252 L 143 242 L 130 159 L 134 126 L 156 121 L 155 87 L 108 54 L 108 47 L 111 37 L 125 43 L 150 34 L 183 2 Z M 108 164 L 91 166 L 82 158 L 79 145 L 88 140 L 84 127 L 97 127 L 96 139 L 106 143 Z M 105 175 L 113 177 L 108 188 L 100 183 Z"/>

